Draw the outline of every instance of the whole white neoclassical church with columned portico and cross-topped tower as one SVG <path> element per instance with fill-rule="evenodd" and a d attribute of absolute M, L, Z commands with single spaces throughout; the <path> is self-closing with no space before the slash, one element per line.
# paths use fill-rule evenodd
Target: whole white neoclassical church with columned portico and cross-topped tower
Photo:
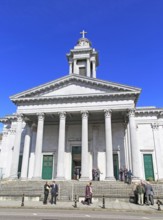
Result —
<path fill-rule="evenodd" d="M 69 75 L 10 97 L 0 175 L 7 179 L 115 181 L 119 169 L 163 180 L 163 109 L 136 107 L 141 89 L 96 78 L 98 52 L 82 32 L 67 54 Z"/>

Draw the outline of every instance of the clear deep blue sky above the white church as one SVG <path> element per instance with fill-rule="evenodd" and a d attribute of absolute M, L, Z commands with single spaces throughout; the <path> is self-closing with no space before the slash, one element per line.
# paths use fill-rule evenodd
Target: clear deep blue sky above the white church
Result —
<path fill-rule="evenodd" d="M 163 107 L 163 0 L 0 0 L 0 117 L 16 111 L 9 96 L 68 74 L 83 29 L 97 78 L 141 88 L 137 106 Z"/>

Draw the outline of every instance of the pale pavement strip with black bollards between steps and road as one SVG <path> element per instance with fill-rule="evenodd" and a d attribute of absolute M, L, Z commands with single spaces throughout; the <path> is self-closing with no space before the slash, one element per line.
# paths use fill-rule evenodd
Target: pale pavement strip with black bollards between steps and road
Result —
<path fill-rule="evenodd" d="M 23 205 L 23 206 L 22 206 Z M 128 201 L 120 199 L 105 199 L 105 208 L 103 208 L 102 200 L 94 199 L 93 204 L 90 206 L 83 205 L 81 202 L 77 202 L 77 207 L 74 207 L 74 201 L 57 201 L 56 205 L 48 203 L 44 205 L 42 201 L 31 201 L 24 199 L 24 204 L 20 200 L 0 200 L 0 208 L 21 208 L 21 209 L 58 209 L 58 210 L 95 210 L 95 211 L 124 211 L 124 212 L 146 212 L 146 213 L 163 213 L 163 206 L 161 211 L 158 211 L 158 205 L 156 201 L 154 205 L 137 205 Z"/>

